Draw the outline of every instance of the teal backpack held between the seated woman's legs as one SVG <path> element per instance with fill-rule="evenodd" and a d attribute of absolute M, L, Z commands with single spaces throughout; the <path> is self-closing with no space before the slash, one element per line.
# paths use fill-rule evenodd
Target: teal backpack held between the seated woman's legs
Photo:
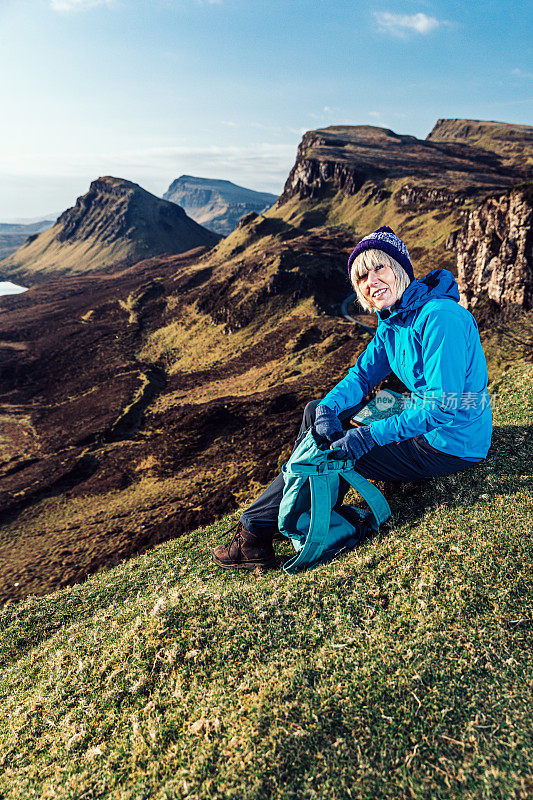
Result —
<path fill-rule="evenodd" d="M 332 457 L 329 443 L 321 444 L 310 428 L 282 468 L 285 488 L 278 528 L 291 540 L 296 555 L 283 569 L 289 575 L 325 564 L 359 542 L 370 528 L 377 530 L 390 517 L 389 504 L 352 461 Z M 341 481 L 356 489 L 370 512 L 355 506 L 334 508 Z"/>

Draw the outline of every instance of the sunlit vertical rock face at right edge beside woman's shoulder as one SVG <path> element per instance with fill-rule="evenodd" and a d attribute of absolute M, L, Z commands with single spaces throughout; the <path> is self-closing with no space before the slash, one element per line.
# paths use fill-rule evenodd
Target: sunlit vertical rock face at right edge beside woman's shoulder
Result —
<path fill-rule="evenodd" d="M 533 307 L 533 184 L 487 199 L 456 237 L 461 303 L 484 295 L 499 306 Z"/>

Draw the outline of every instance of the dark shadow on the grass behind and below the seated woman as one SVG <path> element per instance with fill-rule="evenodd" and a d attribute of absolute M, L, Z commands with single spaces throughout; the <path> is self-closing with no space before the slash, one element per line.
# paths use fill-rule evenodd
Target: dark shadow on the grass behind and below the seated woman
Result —
<path fill-rule="evenodd" d="M 496 427 L 489 455 L 480 464 L 427 481 L 382 484 L 394 524 L 416 522 L 438 506 L 471 505 L 483 495 L 512 497 L 518 485 L 532 486 L 532 431 L 527 425 Z"/>

